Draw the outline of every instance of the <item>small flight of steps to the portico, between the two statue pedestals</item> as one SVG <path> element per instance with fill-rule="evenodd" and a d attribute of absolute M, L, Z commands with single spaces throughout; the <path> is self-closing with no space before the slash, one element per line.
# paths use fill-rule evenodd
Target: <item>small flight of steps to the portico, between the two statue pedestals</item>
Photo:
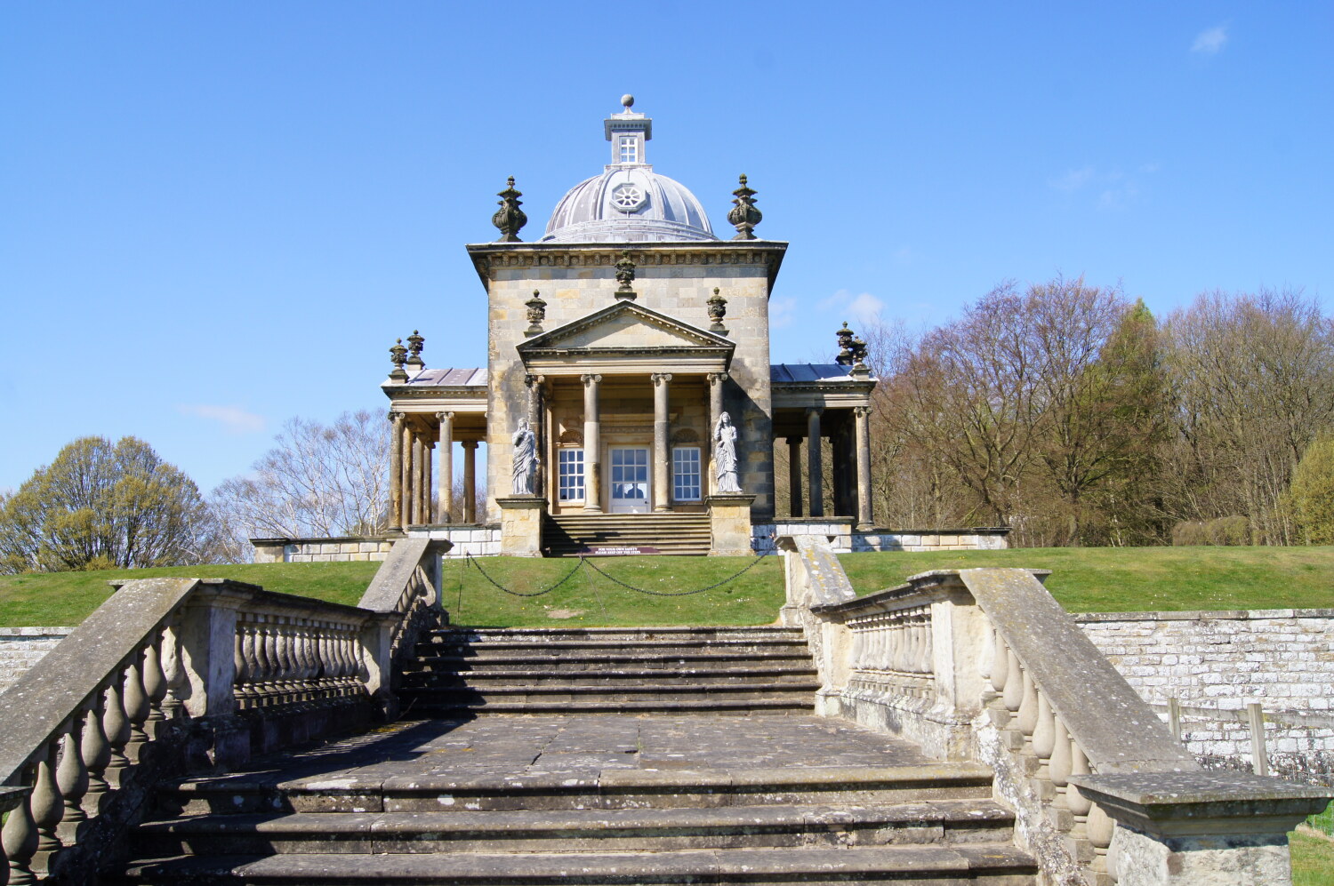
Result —
<path fill-rule="evenodd" d="M 572 557 L 588 548 L 652 548 L 660 554 L 708 553 L 708 514 L 559 514 L 542 526 L 542 549 Z"/>

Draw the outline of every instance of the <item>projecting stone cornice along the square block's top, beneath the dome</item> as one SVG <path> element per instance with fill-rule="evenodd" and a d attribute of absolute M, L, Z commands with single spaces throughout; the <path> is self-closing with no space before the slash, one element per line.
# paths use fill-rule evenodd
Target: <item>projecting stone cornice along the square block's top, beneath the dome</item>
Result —
<path fill-rule="evenodd" d="M 698 242 L 475 242 L 468 256 L 482 285 L 488 286 L 495 272 L 506 268 L 607 268 L 615 269 L 620 253 L 631 258 L 644 274 L 656 266 L 682 265 L 759 265 L 768 272 L 774 288 L 783 264 L 787 244 L 778 240 L 718 240 Z M 608 274 L 610 276 L 610 274 Z"/>

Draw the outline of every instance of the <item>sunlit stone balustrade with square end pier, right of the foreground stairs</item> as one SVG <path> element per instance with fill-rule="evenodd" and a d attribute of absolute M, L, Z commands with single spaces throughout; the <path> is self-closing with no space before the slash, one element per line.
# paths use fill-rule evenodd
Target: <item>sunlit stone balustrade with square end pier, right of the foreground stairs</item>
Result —
<path fill-rule="evenodd" d="M 1334 791 L 1203 771 L 1045 572 L 931 572 L 858 598 L 822 540 L 779 546 L 782 618 L 815 652 L 819 713 L 990 765 L 1050 882 L 1287 882 L 1287 830 Z"/>

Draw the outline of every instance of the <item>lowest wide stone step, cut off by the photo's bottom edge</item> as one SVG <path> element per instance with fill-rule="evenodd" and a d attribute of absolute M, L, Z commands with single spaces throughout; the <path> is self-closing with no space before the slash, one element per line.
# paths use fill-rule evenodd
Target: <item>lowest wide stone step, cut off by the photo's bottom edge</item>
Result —
<path fill-rule="evenodd" d="M 404 882 L 475 883 L 883 883 L 932 886 L 1031 886 L 1033 858 L 995 843 L 863 846 L 850 849 L 715 849 L 663 853 L 470 854 L 467 865 L 442 865 L 422 854 L 307 854 L 268 858 L 175 858 L 137 863 L 128 883 L 343 885 Z"/>

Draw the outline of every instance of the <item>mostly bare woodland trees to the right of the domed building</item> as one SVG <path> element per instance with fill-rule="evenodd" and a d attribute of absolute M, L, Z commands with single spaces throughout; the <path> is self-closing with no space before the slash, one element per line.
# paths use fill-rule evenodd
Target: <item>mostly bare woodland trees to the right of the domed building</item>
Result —
<path fill-rule="evenodd" d="M 863 337 L 879 525 L 1334 542 L 1334 325 L 1299 292 L 1207 293 L 1159 321 L 1119 288 L 1005 284 L 946 325 Z"/>

